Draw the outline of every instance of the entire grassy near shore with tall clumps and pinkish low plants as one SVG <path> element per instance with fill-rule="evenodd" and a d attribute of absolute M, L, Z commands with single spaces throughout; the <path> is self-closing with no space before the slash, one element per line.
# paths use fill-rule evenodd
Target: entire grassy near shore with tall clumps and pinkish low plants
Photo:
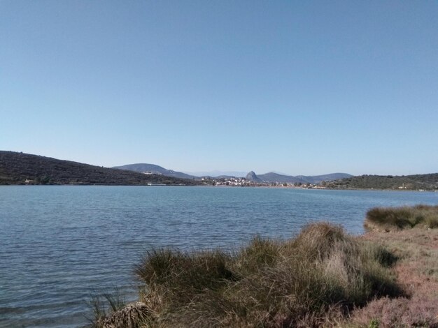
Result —
<path fill-rule="evenodd" d="M 234 253 L 153 250 L 135 269 L 139 301 L 94 302 L 92 327 L 438 328 L 437 218 L 438 206 L 375 208 L 358 237 L 314 223 Z"/>

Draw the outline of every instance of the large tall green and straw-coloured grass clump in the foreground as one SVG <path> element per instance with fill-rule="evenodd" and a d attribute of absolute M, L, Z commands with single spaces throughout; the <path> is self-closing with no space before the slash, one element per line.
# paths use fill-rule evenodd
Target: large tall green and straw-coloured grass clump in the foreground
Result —
<path fill-rule="evenodd" d="M 150 251 L 135 270 L 144 327 L 319 327 L 402 294 L 388 254 L 329 223 L 288 241 L 255 237 L 235 253 Z"/>

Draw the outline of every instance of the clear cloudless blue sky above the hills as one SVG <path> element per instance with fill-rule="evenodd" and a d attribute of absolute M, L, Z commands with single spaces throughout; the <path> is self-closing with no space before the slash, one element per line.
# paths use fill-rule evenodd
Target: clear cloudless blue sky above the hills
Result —
<path fill-rule="evenodd" d="M 0 0 L 0 149 L 438 172 L 437 1 Z"/>

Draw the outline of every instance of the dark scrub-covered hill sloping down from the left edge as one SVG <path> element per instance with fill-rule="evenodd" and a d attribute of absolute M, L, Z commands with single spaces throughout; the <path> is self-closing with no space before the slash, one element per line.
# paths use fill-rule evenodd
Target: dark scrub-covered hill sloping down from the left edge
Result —
<path fill-rule="evenodd" d="M 194 185 L 187 179 L 141 174 L 56 158 L 0 151 L 0 184 Z"/>

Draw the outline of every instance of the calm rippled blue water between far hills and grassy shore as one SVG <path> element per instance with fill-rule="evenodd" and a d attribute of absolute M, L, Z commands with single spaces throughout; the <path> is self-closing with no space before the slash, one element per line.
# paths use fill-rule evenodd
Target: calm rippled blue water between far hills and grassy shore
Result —
<path fill-rule="evenodd" d="M 132 269 L 151 247 L 231 248 L 317 220 L 360 234 L 367 209 L 418 203 L 438 204 L 438 193 L 2 186 L 0 327 L 85 325 L 93 290 L 134 297 Z"/>

